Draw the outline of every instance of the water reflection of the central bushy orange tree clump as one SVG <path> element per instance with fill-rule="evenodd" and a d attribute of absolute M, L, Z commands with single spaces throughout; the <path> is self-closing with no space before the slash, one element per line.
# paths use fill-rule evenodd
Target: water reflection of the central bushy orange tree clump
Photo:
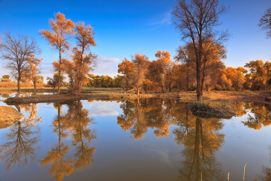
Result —
<path fill-rule="evenodd" d="M 143 99 L 137 102 L 124 101 L 120 105 L 123 114 L 117 124 L 125 132 L 128 129 L 134 139 L 143 139 L 149 128 L 155 129 L 157 138 L 167 137 L 171 119 L 167 117 L 163 99 Z"/>

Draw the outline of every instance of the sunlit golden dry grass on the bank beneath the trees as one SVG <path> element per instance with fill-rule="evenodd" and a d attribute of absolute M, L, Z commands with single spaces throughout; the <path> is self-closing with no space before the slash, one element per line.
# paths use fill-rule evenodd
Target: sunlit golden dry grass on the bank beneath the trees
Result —
<path fill-rule="evenodd" d="M 0 88 L 0 94 L 4 93 L 16 93 L 16 88 Z M 53 88 L 22 88 L 22 92 L 32 92 L 32 93 L 56 93 L 57 89 Z M 62 88 L 62 94 L 67 94 L 68 89 Z M 48 95 L 48 101 L 54 100 L 56 95 Z M 83 88 L 81 97 L 86 99 L 102 99 L 102 100 L 117 100 L 117 99 L 137 99 L 137 95 L 132 92 L 124 93 L 121 88 Z M 271 106 L 271 102 L 268 101 L 268 97 L 271 97 L 271 91 L 240 91 L 240 92 L 231 92 L 231 91 L 215 91 L 215 92 L 204 92 L 203 100 L 204 101 L 213 101 L 213 100 L 226 100 L 226 101 L 244 101 L 244 102 L 257 102 L 264 103 Z M 140 94 L 140 98 L 169 98 L 169 99 L 178 99 L 180 101 L 196 102 L 196 92 L 173 92 L 173 93 L 147 93 Z M 217 104 L 217 103 L 216 103 Z"/>

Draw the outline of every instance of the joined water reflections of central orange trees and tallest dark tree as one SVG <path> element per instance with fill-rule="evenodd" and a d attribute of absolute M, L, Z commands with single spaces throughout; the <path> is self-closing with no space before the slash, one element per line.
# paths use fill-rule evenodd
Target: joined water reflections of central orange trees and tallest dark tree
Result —
<path fill-rule="evenodd" d="M 225 180 L 222 166 L 216 161 L 215 152 L 224 144 L 220 132 L 224 124 L 217 118 L 194 116 L 185 104 L 176 100 L 144 99 L 141 102 L 125 101 L 120 108 L 123 114 L 117 123 L 123 131 L 130 130 L 134 139 L 142 139 L 148 128 L 153 128 L 157 138 L 168 136 L 170 125 L 175 141 L 183 144 L 183 167 L 180 180 Z"/>

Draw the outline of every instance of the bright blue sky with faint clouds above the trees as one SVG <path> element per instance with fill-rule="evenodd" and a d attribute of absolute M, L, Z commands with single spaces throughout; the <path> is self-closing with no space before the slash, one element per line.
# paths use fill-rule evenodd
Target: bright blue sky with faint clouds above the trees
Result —
<path fill-rule="evenodd" d="M 238 67 L 250 60 L 271 61 L 271 38 L 257 24 L 263 12 L 271 8 L 270 0 L 221 0 L 230 6 L 221 16 L 220 29 L 228 29 L 231 37 L 225 46 L 225 65 Z M 92 52 L 99 56 L 94 74 L 117 74 L 117 64 L 135 53 L 155 59 L 157 50 L 167 50 L 172 58 L 181 41 L 171 21 L 175 0 L 167 1 L 12 1 L 0 0 L 0 34 L 28 34 L 36 38 L 44 58 L 41 74 L 52 76 L 53 60 L 58 55 L 38 34 L 49 29 L 48 21 L 61 12 L 73 22 L 84 21 L 95 31 L 97 46 Z M 0 60 L 0 76 L 9 74 Z"/>

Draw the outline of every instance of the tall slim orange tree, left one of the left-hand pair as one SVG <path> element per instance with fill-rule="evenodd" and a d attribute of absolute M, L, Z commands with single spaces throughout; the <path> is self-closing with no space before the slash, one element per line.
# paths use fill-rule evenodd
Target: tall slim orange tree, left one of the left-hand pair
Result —
<path fill-rule="evenodd" d="M 45 38 L 48 43 L 59 52 L 59 67 L 58 67 L 58 76 L 62 75 L 62 53 L 67 51 L 70 47 L 69 39 L 74 35 L 74 23 L 70 19 L 66 19 L 65 15 L 62 13 L 56 13 L 55 19 L 49 21 L 49 26 L 51 32 L 48 30 L 41 30 L 40 34 Z M 60 95 L 60 78 L 58 78 L 58 95 Z"/>

